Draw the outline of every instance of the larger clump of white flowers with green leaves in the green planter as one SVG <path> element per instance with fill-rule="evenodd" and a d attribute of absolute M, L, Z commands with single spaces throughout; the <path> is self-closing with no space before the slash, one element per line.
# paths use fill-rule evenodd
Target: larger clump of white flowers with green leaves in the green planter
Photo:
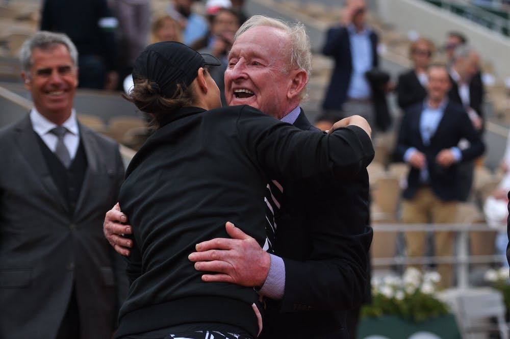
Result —
<path fill-rule="evenodd" d="M 361 316 L 393 315 L 422 322 L 448 314 L 448 306 L 437 295 L 440 280 L 437 272 L 422 274 L 415 268 L 406 269 L 402 277 L 373 278 L 372 303 L 362 307 Z"/>

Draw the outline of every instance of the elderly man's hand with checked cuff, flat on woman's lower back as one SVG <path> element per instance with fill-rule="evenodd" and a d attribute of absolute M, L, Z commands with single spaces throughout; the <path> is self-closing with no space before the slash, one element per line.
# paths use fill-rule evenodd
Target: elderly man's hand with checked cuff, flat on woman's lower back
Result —
<path fill-rule="evenodd" d="M 271 266 L 271 257 L 259 243 L 233 223 L 225 224 L 233 239 L 215 238 L 196 245 L 189 255 L 197 271 L 217 272 L 202 275 L 203 281 L 232 282 L 242 286 L 262 286 Z"/>

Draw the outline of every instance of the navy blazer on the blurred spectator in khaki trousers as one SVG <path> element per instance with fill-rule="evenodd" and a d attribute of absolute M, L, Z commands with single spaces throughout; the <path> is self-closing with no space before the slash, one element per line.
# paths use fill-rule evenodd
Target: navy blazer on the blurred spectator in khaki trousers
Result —
<path fill-rule="evenodd" d="M 430 187 L 434 193 L 444 201 L 458 200 L 460 184 L 457 182 L 458 164 L 448 168 L 439 166 L 436 163 L 436 155 L 442 149 L 456 147 L 461 138 L 466 138 L 471 143 L 469 148 L 461 151 L 463 162 L 481 155 L 485 147 L 463 107 L 451 100 L 445 108 L 436 133 L 430 139 L 430 145 L 425 146 L 420 133 L 422 109 L 422 104 L 414 105 L 402 117 L 395 150 L 396 157 L 403 161 L 405 151 L 410 147 L 416 147 L 427 159 Z M 403 191 L 404 198 L 413 198 L 420 186 L 419 177 L 420 171 L 412 167 L 407 178 L 407 188 Z"/>

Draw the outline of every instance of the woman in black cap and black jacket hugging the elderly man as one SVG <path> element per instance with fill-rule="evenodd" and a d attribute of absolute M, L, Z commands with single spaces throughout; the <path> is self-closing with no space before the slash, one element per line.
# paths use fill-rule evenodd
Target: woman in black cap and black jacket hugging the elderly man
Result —
<path fill-rule="evenodd" d="M 133 226 L 121 338 L 255 338 L 253 288 L 203 282 L 195 244 L 227 237 L 229 220 L 265 241 L 266 183 L 284 176 L 349 175 L 373 158 L 358 126 L 303 132 L 249 106 L 221 108 L 207 66 L 216 58 L 177 42 L 149 45 L 129 100 L 158 126 L 127 168 L 119 202 Z"/>

